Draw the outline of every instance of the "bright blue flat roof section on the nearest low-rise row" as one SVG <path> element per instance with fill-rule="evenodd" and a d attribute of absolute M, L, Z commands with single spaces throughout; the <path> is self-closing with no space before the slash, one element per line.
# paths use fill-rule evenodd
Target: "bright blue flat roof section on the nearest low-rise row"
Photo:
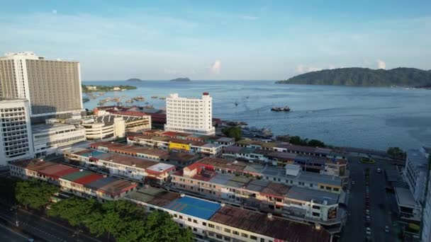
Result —
<path fill-rule="evenodd" d="M 220 207 L 220 204 L 216 202 L 209 202 L 188 196 L 181 197 L 164 206 L 164 208 L 198 217 L 199 219 L 211 218 Z"/>

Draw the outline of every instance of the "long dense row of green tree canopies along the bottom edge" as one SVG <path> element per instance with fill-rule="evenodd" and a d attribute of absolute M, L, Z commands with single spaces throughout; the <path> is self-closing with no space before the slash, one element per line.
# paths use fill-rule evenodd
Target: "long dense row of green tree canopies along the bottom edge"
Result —
<path fill-rule="evenodd" d="M 66 219 L 72 226 L 86 226 L 96 236 L 112 235 L 118 242 L 194 240 L 191 231 L 181 229 L 169 214 L 148 214 L 145 208 L 125 200 L 99 204 L 75 197 L 53 204 L 48 214 Z"/>

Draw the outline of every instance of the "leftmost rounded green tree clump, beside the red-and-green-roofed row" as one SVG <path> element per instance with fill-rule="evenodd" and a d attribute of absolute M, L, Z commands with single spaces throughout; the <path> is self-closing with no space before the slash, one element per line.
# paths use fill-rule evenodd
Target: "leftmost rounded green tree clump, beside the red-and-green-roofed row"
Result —
<path fill-rule="evenodd" d="M 59 192 L 60 188 L 40 180 L 24 180 L 16 183 L 16 201 L 31 207 L 40 209 L 50 202 L 51 196 Z"/>

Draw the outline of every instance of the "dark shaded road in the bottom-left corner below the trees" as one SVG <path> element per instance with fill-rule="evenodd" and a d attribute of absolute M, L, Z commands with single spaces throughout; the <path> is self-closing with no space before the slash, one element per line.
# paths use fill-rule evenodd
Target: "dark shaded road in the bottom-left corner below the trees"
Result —
<path fill-rule="evenodd" d="M 7 207 L 0 207 L 0 218 L 2 220 L 10 221 L 15 224 L 16 215 L 11 212 Z M 44 241 L 52 242 L 68 242 L 68 241 L 82 241 L 82 242 L 99 242 L 99 240 L 80 234 L 77 236 L 75 229 L 57 224 L 50 219 L 45 219 L 28 212 L 21 212 L 18 210 L 19 229 L 22 229 L 26 234 L 31 234 L 36 238 L 43 238 Z"/>

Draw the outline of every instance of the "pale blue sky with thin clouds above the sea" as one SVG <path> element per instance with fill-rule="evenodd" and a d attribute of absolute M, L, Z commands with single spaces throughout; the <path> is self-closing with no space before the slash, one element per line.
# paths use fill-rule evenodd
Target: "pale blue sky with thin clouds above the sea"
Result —
<path fill-rule="evenodd" d="M 431 69 L 431 1 L 0 1 L 0 54 L 81 63 L 82 80 L 280 80 Z"/>

